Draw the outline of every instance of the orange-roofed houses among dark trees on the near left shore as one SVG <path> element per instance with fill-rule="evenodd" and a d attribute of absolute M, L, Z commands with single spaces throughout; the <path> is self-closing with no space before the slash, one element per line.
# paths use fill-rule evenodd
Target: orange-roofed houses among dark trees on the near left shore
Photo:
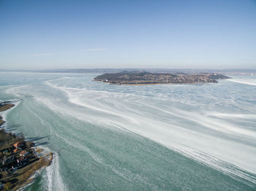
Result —
<path fill-rule="evenodd" d="M 26 148 L 26 141 L 19 141 L 12 147 L 1 150 L 0 171 L 10 173 L 37 160 L 34 149 Z"/>

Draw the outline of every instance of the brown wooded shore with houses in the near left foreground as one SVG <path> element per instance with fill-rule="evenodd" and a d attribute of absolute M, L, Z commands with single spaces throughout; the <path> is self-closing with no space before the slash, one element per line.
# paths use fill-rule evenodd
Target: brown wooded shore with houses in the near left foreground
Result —
<path fill-rule="evenodd" d="M 2 102 L 0 112 L 13 106 L 9 101 Z M 51 164 L 53 153 L 44 153 L 23 135 L 6 132 L 2 128 L 4 122 L 0 115 L 0 190 L 20 190 L 34 182 L 37 172 Z"/>

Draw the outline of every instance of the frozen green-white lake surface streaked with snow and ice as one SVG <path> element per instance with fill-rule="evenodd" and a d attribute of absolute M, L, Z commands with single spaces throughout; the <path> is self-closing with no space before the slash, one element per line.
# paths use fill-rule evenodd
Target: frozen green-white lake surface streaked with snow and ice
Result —
<path fill-rule="evenodd" d="M 1 73 L 9 130 L 54 152 L 25 190 L 255 190 L 256 77 L 121 86 Z"/>

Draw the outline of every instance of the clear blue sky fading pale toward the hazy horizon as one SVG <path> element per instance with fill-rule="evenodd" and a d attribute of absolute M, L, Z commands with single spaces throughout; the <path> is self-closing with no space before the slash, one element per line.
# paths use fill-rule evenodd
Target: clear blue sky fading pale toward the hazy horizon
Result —
<path fill-rule="evenodd" d="M 0 69 L 256 69 L 256 0 L 0 0 Z"/>

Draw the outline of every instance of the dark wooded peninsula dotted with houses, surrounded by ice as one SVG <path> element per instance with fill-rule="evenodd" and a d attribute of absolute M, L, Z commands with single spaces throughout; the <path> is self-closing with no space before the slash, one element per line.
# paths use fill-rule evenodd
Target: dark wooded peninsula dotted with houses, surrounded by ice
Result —
<path fill-rule="evenodd" d="M 118 72 L 102 74 L 94 77 L 94 81 L 106 82 L 116 85 L 154 85 L 154 84 L 195 84 L 217 83 L 217 79 L 229 79 L 218 73 L 150 73 L 150 72 Z"/>

